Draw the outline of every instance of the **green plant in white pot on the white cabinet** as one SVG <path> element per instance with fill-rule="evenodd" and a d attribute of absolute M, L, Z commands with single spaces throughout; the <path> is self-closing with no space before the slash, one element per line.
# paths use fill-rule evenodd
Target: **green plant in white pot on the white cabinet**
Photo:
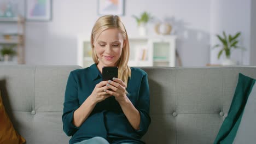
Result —
<path fill-rule="evenodd" d="M 138 30 L 139 30 L 139 35 L 141 36 L 146 36 L 147 35 L 147 29 L 146 29 L 146 24 L 149 22 L 150 19 L 153 19 L 152 16 L 150 16 L 149 13 L 147 13 L 146 11 L 144 11 L 141 16 L 137 17 L 135 15 L 132 15 L 136 21 L 137 21 L 137 25 L 138 25 Z"/>

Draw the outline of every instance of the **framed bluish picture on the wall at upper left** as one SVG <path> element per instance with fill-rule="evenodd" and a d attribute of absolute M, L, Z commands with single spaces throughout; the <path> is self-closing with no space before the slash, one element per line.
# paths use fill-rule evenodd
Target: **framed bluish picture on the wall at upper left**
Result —
<path fill-rule="evenodd" d="M 28 21 L 50 21 L 51 0 L 26 0 L 26 19 Z"/>

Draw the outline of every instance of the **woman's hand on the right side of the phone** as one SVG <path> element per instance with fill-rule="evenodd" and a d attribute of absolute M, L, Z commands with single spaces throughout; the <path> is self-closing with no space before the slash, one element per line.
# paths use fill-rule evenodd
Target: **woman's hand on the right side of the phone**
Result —
<path fill-rule="evenodd" d="M 107 86 L 111 89 L 111 90 L 105 90 L 106 93 L 111 94 L 115 97 L 115 100 L 117 101 L 123 101 L 126 99 L 126 85 L 125 83 L 117 78 L 113 78 L 112 80 L 108 81 Z"/>

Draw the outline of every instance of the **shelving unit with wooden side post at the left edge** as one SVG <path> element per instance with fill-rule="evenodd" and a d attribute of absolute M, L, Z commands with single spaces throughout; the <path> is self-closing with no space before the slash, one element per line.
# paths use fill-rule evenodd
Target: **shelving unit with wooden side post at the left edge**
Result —
<path fill-rule="evenodd" d="M 4 38 L 4 34 L 0 32 L 0 47 L 2 47 L 1 45 L 3 44 L 16 44 L 16 47 L 14 47 L 14 50 L 16 51 L 16 55 L 13 57 L 13 61 L 8 61 L 8 62 L 0 61 L 0 64 L 25 64 L 25 40 L 24 40 L 25 19 L 24 17 L 21 17 L 21 16 L 0 17 L 0 26 L 4 28 L 4 30 L 15 29 L 15 37 L 14 35 L 9 34 L 10 38 Z M 0 30 L 3 30 L 3 29 L 0 29 Z M 8 33 L 5 35 L 8 35 Z"/>

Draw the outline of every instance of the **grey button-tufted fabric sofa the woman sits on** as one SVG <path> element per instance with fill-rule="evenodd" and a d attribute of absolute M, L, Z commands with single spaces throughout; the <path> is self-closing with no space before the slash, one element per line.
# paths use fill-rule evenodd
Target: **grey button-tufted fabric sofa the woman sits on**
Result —
<path fill-rule="evenodd" d="M 68 143 L 62 108 L 75 65 L 0 65 L 0 89 L 11 121 L 27 143 Z M 229 110 L 238 73 L 256 67 L 142 67 L 150 86 L 146 143 L 213 143 Z"/>

